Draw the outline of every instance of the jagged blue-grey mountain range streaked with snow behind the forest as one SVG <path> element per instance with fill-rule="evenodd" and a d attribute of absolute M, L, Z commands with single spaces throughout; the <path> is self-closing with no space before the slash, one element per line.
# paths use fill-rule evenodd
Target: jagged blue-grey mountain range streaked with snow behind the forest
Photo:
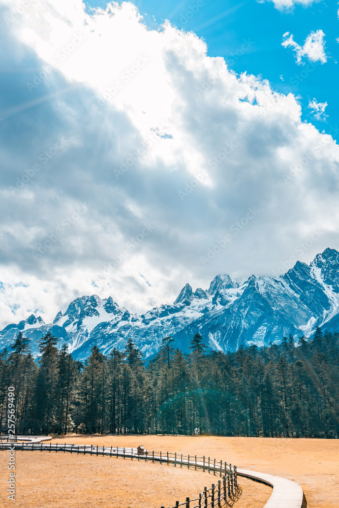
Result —
<path fill-rule="evenodd" d="M 132 337 L 145 357 L 159 351 L 164 337 L 172 335 L 175 345 L 189 351 L 199 332 L 208 347 L 236 351 L 243 345 L 280 342 L 290 333 L 310 337 L 316 326 L 339 331 L 339 252 L 327 248 L 310 265 L 298 261 L 280 277 L 233 280 L 217 275 L 209 289 L 193 292 L 186 284 L 172 305 L 155 307 L 145 314 L 132 314 L 111 297 L 76 298 L 66 312 L 58 312 L 53 323 L 30 315 L 0 332 L 0 348 L 9 347 L 22 331 L 38 355 L 37 340 L 48 330 L 65 342 L 74 358 L 84 360 L 97 344 L 102 353 L 113 347 L 123 350 Z"/>

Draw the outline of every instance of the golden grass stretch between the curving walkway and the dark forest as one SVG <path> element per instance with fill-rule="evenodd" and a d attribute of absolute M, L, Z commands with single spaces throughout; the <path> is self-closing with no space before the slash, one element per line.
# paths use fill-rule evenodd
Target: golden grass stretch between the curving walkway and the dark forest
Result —
<path fill-rule="evenodd" d="M 60 438 L 54 439 L 54 442 Z M 64 438 L 61 439 L 65 441 Z M 274 439 L 214 436 L 68 437 L 69 442 L 137 447 L 206 455 L 238 467 L 276 474 L 298 482 L 307 508 L 339 507 L 339 439 Z M 245 506 L 241 508 L 245 508 Z M 259 504 L 256 508 L 261 508 Z"/>

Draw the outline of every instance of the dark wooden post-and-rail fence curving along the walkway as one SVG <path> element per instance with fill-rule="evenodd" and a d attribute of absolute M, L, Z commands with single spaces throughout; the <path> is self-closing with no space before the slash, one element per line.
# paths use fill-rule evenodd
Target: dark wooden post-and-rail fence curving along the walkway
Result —
<path fill-rule="evenodd" d="M 222 501 L 227 500 L 227 496 L 231 497 L 238 489 L 237 484 L 237 468 L 231 464 L 211 459 L 210 457 L 197 457 L 196 455 L 182 455 L 170 452 L 148 452 L 143 454 L 138 452 L 138 449 L 133 448 L 118 448 L 118 447 L 99 447 L 93 444 L 47 444 L 41 443 L 0 443 L 0 450 L 26 450 L 26 451 L 45 451 L 45 452 L 68 452 L 76 454 L 89 454 L 101 455 L 110 457 L 121 457 L 124 459 L 135 459 L 144 462 L 160 462 L 160 464 L 173 464 L 174 467 L 187 467 L 188 469 L 202 469 L 204 472 L 213 473 L 221 478 L 216 484 L 212 484 L 210 489 L 207 487 L 199 494 L 196 499 L 186 498 L 186 501 L 179 503 L 176 501 L 172 508 L 177 506 L 184 506 L 185 508 L 214 508 L 221 506 Z M 198 502 L 198 503 L 197 503 Z M 197 504 L 193 504 L 197 503 Z M 164 506 L 161 506 L 164 508 Z"/>

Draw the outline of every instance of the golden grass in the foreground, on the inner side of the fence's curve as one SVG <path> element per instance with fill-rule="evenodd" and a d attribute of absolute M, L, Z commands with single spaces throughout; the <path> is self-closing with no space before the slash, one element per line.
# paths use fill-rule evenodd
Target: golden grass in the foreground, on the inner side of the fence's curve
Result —
<path fill-rule="evenodd" d="M 102 443 L 102 438 L 97 439 Z M 97 441 L 96 439 L 91 441 Z M 77 440 L 78 442 L 78 440 Z M 86 439 L 86 443 L 89 440 Z M 15 501 L 6 498 L 9 452 L 0 452 L 0 506 L 20 508 L 160 508 L 196 498 L 218 477 L 166 464 L 58 452 L 17 451 Z M 241 479 L 239 494 L 225 507 L 259 508 L 267 486 Z"/>

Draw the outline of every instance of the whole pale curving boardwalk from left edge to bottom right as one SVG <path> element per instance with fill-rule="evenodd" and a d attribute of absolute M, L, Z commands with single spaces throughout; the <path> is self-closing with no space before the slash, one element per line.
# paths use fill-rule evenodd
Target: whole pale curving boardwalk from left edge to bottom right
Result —
<path fill-rule="evenodd" d="M 34 445 L 35 444 L 41 444 L 41 448 L 37 447 L 37 450 L 41 450 L 41 451 L 53 451 L 56 449 L 59 450 L 60 448 L 60 451 L 61 450 L 64 450 L 64 451 L 67 451 L 67 452 L 71 452 L 74 451 L 75 453 L 79 453 L 80 451 L 82 453 L 91 453 L 92 450 L 89 451 L 89 446 L 87 445 L 87 449 L 84 445 L 78 445 L 78 444 L 70 444 L 70 443 L 65 443 L 65 444 L 49 444 L 49 446 L 44 446 L 43 447 L 43 442 L 44 441 L 50 441 L 52 438 L 51 437 L 48 437 L 48 436 L 18 436 L 17 437 L 18 441 L 21 441 L 20 443 L 19 442 L 16 442 L 16 443 L 0 443 L 0 450 L 3 449 L 3 450 L 6 450 L 8 448 L 8 446 L 12 446 L 13 447 L 13 444 L 14 444 L 14 447 L 18 450 L 32 450 L 34 448 Z M 32 448 L 30 448 L 30 446 L 32 445 Z M 21 448 L 22 447 L 22 448 Z M 92 448 L 92 447 L 91 447 Z M 122 449 L 121 449 L 122 450 Z M 141 458 L 142 460 L 142 456 L 138 456 L 137 452 L 135 449 L 133 449 L 133 454 L 132 454 L 132 449 L 131 448 L 126 448 L 124 449 L 126 451 L 126 454 L 128 454 L 131 458 L 132 458 L 132 455 L 133 457 L 135 458 Z M 124 456 L 125 456 L 125 451 L 124 451 Z M 114 456 L 123 456 L 122 453 L 119 451 L 118 448 L 110 448 L 110 447 L 94 447 L 94 453 L 96 454 L 100 454 L 100 455 L 111 455 L 112 456 L 112 452 L 114 454 Z M 149 458 L 151 458 L 149 456 Z M 147 460 L 147 457 L 146 457 L 146 460 Z M 154 456 L 154 459 L 155 461 L 157 462 L 167 462 L 167 457 L 164 456 L 163 458 L 161 458 L 160 456 Z M 170 463 L 174 463 L 174 459 L 172 458 L 169 458 L 168 459 L 168 462 Z M 183 459 L 182 460 L 182 463 L 188 463 L 187 460 Z M 202 467 L 202 462 L 198 462 L 197 461 L 197 465 L 200 465 Z M 190 465 L 194 466 L 194 463 L 190 461 Z M 211 470 L 213 470 L 213 468 L 211 467 L 210 468 Z M 217 471 L 217 469 L 215 469 Z M 218 471 L 219 472 L 219 469 Z M 261 472 L 257 472 L 257 471 L 251 471 L 249 469 L 241 469 L 241 468 L 237 468 L 237 474 L 239 476 L 242 476 L 242 477 L 246 477 L 246 478 L 249 478 L 251 480 L 254 480 L 254 481 L 257 481 L 257 482 L 262 482 L 266 485 L 269 485 L 270 487 L 273 488 L 273 491 L 272 491 L 272 494 L 269 498 L 269 500 L 267 501 L 267 503 L 265 504 L 265 506 L 263 506 L 263 508 L 303 508 L 303 499 L 304 499 L 304 496 L 303 496 L 303 492 L 302 492 L 302 489 L 300 487 L 299 484 L 297 484 L 296 482 L 292 482 L 290 480 L 287 480 L 285 478 L 282 478 L 282 477 L 276 477 L 272 474 L 267 474 L 267 473 L 261 473 Z M 306 504 L 305 504 L 306 506 Z"/>

